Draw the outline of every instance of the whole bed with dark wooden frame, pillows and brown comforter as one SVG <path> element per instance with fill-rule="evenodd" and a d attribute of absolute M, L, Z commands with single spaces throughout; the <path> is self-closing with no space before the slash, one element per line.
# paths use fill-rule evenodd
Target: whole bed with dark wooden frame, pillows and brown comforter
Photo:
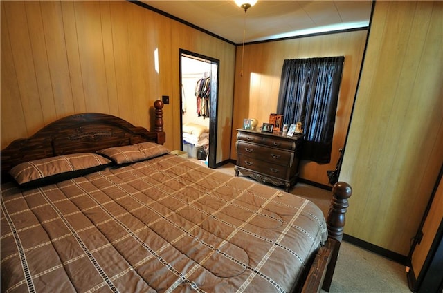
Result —
<path fill-rule="evenodd" d="M 85 113 L 1 151 L 1 292 L 329 290 L 352 189 L 309 200 L 203 167 Z"/>

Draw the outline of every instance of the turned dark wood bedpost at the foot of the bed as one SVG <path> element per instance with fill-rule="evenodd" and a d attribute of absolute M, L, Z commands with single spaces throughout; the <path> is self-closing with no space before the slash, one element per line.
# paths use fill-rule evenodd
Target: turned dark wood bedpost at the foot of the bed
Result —
<path fill-rule="evenodd" d="M 332 187 L 332 201 L 327 214 L 327 231 L 329 241 L 332 242 L 331 262 L 327 266 L 327 272 L 323 281 L 322 289 L 329 292 L 332 275 L 338 258 L 341 240 L 343 239 L 343 227 L 345 226 L 345 213 L 349 204 L 347 199 L 352 196 L 352 188 L 346 182 L 336 182 Z"/>

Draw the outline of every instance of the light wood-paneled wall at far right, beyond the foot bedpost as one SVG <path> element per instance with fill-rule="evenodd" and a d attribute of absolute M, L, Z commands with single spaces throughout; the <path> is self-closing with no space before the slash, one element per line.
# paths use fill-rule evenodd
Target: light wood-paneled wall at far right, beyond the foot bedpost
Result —
<path fill-rule="evenodd" d="M 345 233 L 406 256 L 443 163 L 443 2 L 377 1 L 340 180 Z"/>

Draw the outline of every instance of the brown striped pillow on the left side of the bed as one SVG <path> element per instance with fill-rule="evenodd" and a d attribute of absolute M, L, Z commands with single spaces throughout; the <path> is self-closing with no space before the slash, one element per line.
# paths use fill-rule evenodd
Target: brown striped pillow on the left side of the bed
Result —
<path fill-rule="evenodd" d="M 24 162 L 10 169 L 9 173 L 19 185 L 33 187 L 99 171 L 111 163 L 95 153 L 72 153 Z"/>

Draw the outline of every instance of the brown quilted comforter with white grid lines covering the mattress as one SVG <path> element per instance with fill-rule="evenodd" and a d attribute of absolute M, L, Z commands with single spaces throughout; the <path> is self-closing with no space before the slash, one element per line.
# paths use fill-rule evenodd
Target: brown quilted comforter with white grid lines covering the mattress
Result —
<path fill-rule="evenodd" d="M 288 292 L 322 211 L 177 155 L 1 185 L 2 292 Z"/>

